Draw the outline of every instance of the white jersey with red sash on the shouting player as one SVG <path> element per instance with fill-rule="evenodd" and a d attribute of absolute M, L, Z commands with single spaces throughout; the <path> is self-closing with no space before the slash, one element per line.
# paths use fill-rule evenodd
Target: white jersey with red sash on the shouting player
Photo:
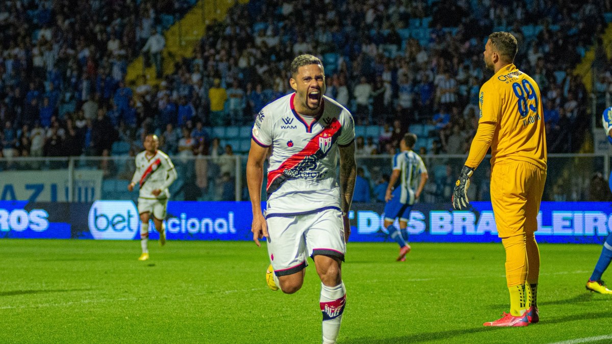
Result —
<path fill-rule="evenodd" d="M 307 118 L 296 112 L 294 97 L 295 93 L 288 94 L 266 105 L 253 125 L 255 143 L 272 150 L 267 216 L 340 209 L 338 146 L 353 143 L 353 116 L 340 103 L 323 96 L 321 113 Z"/>

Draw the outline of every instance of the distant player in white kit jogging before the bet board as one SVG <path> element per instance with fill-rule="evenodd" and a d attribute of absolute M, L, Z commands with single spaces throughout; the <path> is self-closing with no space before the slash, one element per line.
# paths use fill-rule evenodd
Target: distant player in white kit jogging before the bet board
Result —
<path fill-rule="evenodd" d="M 168 187 L 176 180 L 177 174 L 168 155 L 159 151 L 159 138 L 149 134 L 144 138 L 144 151 L 136 155 L 136 171 L 127 189 L 132 191 L 140 185 L 138 195 L 138 213 L 140 214 L 140 246 L 143 253 L 138 260 L 149 259 L 149 219 L 153 218 L 155 230 L 159 232 L 159 244 L 166 244 L 166 232 L 163 219 L 166 217 L 166 206 L 170 192 Z"/>

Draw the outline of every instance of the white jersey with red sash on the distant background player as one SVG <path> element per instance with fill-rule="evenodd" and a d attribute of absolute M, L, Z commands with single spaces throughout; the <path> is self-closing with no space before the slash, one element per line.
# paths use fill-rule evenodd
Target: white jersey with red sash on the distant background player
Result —
<path fill-rule="evenodd" d="M 170 157 L 162 151 L 157 151 L 155 155 L 147 156 L 147 151 L 136 155 L 136 171 L 132 182 L 140 185 L 140 198 L 169 198 L 168 187 L 176 179 L 176 170 Z M 155 197 L 153 190 L 160 189 L 162 192 Z"/>

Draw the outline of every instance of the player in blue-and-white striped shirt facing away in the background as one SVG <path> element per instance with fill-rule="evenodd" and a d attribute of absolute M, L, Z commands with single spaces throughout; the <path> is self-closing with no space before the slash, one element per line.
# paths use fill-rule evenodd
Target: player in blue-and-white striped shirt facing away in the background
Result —
<path fill-rule="evenodd" d="M 400 255 L 398 261 L 405 261 L 406 254 L 410 252 L 408 241 L 408 221 L 412 205 L 419 198 L 425 182 L 427 182 L 427 169 L 423 159 L 412 151 L 417 141 L 417 135 L 406 133 L 400 140 L 400 150 L 393 157 L 393 173 L 389 180 L 389 187 L 384 196 L 387 204 L 384 207 L 384 226 L 398 245 L 400 245 Z M 400 181 L 400 185 L 394 189 L 395 183 Z M 418 182 L 418 186 L 417 186 Z M 400 218 L 400 230 L 393 225 L 395 219 Z"/>

